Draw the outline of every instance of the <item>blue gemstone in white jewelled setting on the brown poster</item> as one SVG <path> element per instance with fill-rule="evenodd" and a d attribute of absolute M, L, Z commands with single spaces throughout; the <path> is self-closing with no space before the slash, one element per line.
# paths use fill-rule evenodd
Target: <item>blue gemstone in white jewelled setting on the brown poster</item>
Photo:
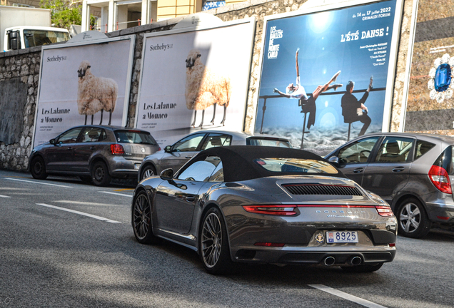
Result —
<path fill-rule="evenodd" d="M 433 61 L 433 67 L 430 68 L 428 89 L 430 90 L 430 99 L 443 103 L 445 98 L 453 97 L 454 83 L 452 73 L 454 71 L 454 57 L 445 53 L 441 58 Z"/>

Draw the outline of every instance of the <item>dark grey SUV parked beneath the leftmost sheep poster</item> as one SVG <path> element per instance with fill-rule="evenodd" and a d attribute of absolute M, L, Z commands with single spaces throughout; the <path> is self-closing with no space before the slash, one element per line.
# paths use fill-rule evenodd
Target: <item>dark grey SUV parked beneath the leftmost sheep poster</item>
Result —
<path fill-rule="evenodd" d="M 105 186 L 111 178 L 135 178 L 143 158 L 158 150 L 145 130 L 81 125 L 34 148 L 29 170 L 36 179 L 78 175 L 84 182 Z"/>

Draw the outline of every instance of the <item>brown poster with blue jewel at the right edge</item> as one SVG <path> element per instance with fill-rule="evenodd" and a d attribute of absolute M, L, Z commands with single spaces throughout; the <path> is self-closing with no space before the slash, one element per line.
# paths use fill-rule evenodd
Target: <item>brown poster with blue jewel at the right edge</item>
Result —
<path fill-rule="evenodd" d="M 441 14 L 440 14 L 441 12 Z M 405 131 L 453 135 L 453 1 L 418 1 Z"/>

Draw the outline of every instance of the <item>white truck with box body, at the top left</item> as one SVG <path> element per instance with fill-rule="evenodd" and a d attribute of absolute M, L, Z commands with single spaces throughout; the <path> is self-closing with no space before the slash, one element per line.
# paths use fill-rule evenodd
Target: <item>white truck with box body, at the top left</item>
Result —
<path fill-rule="evenodd" d="M 0 6 L 1 51 L 41 46 L 70 39 L 69 31 L 51 27 L 51 10 Z"/>

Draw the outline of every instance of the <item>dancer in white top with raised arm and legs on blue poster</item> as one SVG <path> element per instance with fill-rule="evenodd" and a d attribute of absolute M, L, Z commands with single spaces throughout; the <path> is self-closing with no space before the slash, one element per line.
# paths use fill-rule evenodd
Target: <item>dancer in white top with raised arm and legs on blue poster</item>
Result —
<path fill-rule="evenodd" d="M 316 99 L 320 95 L 320 93 L 323 93 L 325 91 L 328 91 L 330 89 L 334 89 L 336 91 L 337 88 L 343 86 L 340 83 L 335 83 L 332 84 L 333 82 L 336 81 L 336 78 L 338 78 L 340 71 L 338 71 L 334 76 L 328 81 L 328 83 L 325 83 L 323 86 L 318 86 L 315 91 L 313 91 L 312 94 L 309 96 L 306 94 L 306 91 L 304 90 L 304 87 L 301 86 L 300 83 L 300 71 L 299 71 L 299 66 L 298 66 L 298 53 L 300 51 L 300 48 L 296 49 L 296 83 L 290 83 L 287 88 L 286 88 L 286 93 L 283 93 L 278 90 L 278 88 L 273 88 L 274 93 L 278 93 L 280 96 L 286 97 L 286 98 L 296 98 L 298 100 L 301 100 L 301 108 L 305 106 L 306 111 L 309 112 L 309 118 L 308 118 L 308 128 L 311 128 L 311 125 L 314 125 L 316 123 Z"/>

